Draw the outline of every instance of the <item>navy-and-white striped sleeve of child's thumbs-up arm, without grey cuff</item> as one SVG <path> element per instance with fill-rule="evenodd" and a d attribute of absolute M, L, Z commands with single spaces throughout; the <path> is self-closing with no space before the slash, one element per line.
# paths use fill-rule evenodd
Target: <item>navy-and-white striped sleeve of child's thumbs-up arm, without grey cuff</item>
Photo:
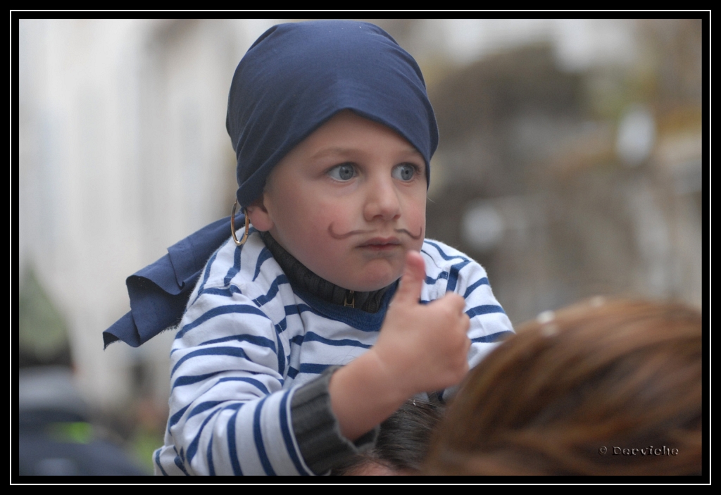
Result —
<path fill-rule="evenodd" d="M 311 474 L 292 434 L 294 389 L 283 390 L 286 337 L 240 290 L 205 287 L 191 300 L 171 352 L 170 417 L 156 471 Z"/>

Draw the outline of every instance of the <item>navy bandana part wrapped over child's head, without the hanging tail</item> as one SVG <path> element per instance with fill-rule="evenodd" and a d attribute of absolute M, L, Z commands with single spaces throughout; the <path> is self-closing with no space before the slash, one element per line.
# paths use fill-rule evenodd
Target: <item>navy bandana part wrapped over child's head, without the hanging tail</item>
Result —
<path fill-rule="evenodd" d="M 418 64 L 388 33 L 367 22 L 314 21 L 279 24 L 258 38 L 228 98 L 239 205 L 259 197 L 273 166 L 341 110 L 395 130 L 428 172 L 438 146 L 433 108 Z"/>

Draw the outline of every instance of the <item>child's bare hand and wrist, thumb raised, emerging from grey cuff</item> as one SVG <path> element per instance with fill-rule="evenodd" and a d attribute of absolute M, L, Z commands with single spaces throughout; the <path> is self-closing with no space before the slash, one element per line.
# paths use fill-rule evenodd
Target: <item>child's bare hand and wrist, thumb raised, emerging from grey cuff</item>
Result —
<path fill-rule="evenodd" d="M 418 302 L 423 280 L 423 257 L 410 251 L 376 345 L 330 380 L 331 407 L 349 440 L 382 422 L 413 394 L 456 385 L 468 371 L 465 300 L 450 293 L 424 306 Z"/>

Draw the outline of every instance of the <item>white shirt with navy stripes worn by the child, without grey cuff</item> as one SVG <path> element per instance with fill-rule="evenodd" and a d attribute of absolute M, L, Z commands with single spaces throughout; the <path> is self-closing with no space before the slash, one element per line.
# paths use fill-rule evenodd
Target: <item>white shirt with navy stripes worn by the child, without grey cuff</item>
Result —
<path fill-rule="evenodd" d="M 438 241 L 426 240 L 421 254 L 421 302 L 446 291 L 466 299 L 473 367 L 513 331 L 510 321 L 479 264 Z M 377 313 L 327 303 L 293 290 L 257 232 L 240 247 L 226 241 L 205 265 L 170 352 L 156 474 L 313 474 L 293 434 L 293 392 L 366 352 L 393 294 L 391 287 Z"/>

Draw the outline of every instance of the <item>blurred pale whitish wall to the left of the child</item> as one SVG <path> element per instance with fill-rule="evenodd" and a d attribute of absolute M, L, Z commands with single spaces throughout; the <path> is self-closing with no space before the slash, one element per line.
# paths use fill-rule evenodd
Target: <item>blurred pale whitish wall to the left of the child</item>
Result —
<path fill-rule="evenodd" d="M 125 277 L 228 215 L 228 89 L 273 21 L 19 22 L 19 266 L 32 264 L 66 317 L 87 398 L 128 400 L 146 360 L 168 387 L 171 334 L 102 350 L 129 311 Z"/>

